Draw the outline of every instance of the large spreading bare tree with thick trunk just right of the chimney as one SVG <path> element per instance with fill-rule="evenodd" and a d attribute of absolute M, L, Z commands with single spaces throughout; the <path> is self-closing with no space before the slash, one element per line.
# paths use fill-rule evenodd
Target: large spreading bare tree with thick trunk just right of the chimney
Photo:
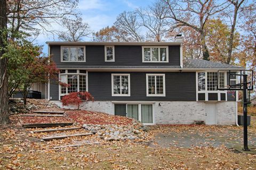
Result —
<path fill-rule="evenodd" d="M 203 59 L 209 60 L 209 52 L 205 43 L 205 23 L 209 18 L 224 10 L 227 2 L 216 4 L 213 0 L 162 0 L 168 10 L 165 18 L 170 19 L 172 29 L 178 27 L 191 27 L 200 33 Z"/>

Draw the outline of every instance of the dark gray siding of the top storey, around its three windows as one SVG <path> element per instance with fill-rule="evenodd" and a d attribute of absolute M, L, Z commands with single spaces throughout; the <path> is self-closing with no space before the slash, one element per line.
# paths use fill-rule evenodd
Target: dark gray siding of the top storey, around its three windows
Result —
<path fill-rule="evenodd" d="M 105 62 L 104 46 L 86 46 L 86 62 L 60 62 L 60 46 L 51 46 L 57 66 L 180 66 L 180 46 L 169 46 L 169 63 L 142 63 L 141 46 L 115 46 L 115 62 Z"/>

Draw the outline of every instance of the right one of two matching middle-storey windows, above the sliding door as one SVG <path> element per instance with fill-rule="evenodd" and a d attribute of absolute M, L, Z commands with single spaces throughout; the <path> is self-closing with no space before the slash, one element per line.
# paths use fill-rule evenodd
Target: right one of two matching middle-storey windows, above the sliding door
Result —
<path fill-rule="evenodd" d="M 146 74 L 147 96 L 165 96 L 165 74 Z"/>

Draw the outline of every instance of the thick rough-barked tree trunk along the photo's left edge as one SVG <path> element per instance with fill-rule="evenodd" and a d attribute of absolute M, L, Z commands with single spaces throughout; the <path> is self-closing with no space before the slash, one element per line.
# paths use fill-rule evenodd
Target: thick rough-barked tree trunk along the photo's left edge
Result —
<path fill-rule="evenodd" d="M 6 29 L 6 0 L 0 0 L 0 47 L 4 47 L 4 41 L 7 41 L 7 35 L 4 35 Z M 0 51 L 0 124 L 10 123 L 8 108 L 8 77 L 7 77 L 7 58 L 2 58 L 4 52 Z"/>

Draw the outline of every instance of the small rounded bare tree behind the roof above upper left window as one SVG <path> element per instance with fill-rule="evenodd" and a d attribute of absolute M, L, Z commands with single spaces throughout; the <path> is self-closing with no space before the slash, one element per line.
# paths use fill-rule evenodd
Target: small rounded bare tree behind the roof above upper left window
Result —
<path fill-rule="evenodd" d="M 92 33 L 89 24 L 83 22 L 83 19 L 81 17 L 77 17 L 76 19 L 64 18 L 61 21 L 61 25 L 64 28 L 64 30 L 57 30 L 56 32 L 59 38 L 63 41 L 83 41 L 84 37 L 88 37 Z"/>

